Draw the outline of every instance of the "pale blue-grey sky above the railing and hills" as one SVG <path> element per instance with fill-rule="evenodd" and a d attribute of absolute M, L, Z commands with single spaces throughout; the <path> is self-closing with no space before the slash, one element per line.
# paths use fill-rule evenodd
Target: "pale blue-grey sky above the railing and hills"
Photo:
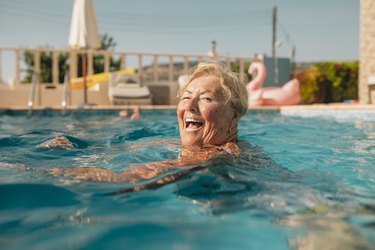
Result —
<path fill-rule="evenodd" d="M 359 58 L 359 0 L 94 0 L 116 51 L 277 55 L 297 62 Z M 0 47 L 67 48 L 73 0 L 0 0 Z M 4 68 L 4 57 L 2 57 Z M 4 70 L 3 70 L 4 71 Z"/>

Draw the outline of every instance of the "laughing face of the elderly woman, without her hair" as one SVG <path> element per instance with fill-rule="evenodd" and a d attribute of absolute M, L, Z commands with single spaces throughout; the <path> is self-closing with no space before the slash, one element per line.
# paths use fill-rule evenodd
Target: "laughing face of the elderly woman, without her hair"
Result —
<path fill-rule="evenodd" d="M 177 107 L 183 145 L 221 145 L 235 138 L 230 133 L 237 119 L 223 88 L 213 76 L 194 79 L 182 93 Z"/>

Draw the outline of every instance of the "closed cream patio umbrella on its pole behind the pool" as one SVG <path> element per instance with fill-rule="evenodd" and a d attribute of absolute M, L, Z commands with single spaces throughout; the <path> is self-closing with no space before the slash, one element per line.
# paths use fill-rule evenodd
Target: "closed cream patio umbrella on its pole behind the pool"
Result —
<path fill-rule="evenodd" d="M 78 50 L 100 47 L 93 0 L 74 0 L 68 44 L 70 48 Z M 87 104 L 86 60 L 87 55 L 84 52 L 82 55 L 84 104 Z"/>

